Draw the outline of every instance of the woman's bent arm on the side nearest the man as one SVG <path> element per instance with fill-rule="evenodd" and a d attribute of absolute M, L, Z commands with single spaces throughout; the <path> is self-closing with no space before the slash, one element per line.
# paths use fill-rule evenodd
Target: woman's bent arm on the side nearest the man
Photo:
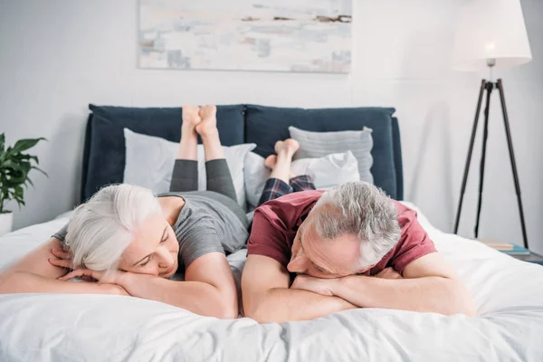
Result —
<path fill-rule="evenodd" d="M 123 273 L 116 281 L 130 295 L 162 301 L 196 314 L 221 319 L 238 315 L 237 292 L 230 265 L 222 252 L 209 252 L 192 262 L 186 281 Z"/>

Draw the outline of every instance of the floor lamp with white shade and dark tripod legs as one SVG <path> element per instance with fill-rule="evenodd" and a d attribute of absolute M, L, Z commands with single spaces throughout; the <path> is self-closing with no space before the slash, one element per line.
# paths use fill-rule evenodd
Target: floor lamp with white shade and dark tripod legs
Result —
<path fill-rule="evenodd" d="M 477 125 L 481 112 L 481 102 L 485 98 L 484 124 L 482 131 L 482 152 L 479 168 L 479 199 L 477 202 L 477 219 L 475 221 L 475 238 L 479 234 L 479 219 L 481 215 L 482 186 L 484 180 L 484 165 L 486 157 L 486 144 L 488 138 L 489 110 L 492 90 L 500 93 L 501 112 L 503 114 L 503 126 L 507 137 L 510 153 L 510 164 L 515 182 L 515 191 L 519 205 L 520 226 L 524 247 L 528 248 L 528 237 L 524 223 L 522 198 L 520 196 L 519 175 L 517 163 L 513 152 L 509 117 L 505 106 L 503 82 L 492 81 L 492 70 L 507 68 L 531 61 L 528 33 L 524 24 L 524 17 L 519 0 L 470 0 L 462 7 L 456 36 L 455 36 L 455 60 L 454 68 L 459 71 L 481 71 L 488 69 L 491 74 L 490 81 L 482 80 L 479 90 L 479 100 L 473 120 L 472 138 L 468 148 L 468 157 L 462 177 L 460 201 L 454 223 L 454 233 L 458 232 L 460 215 L 462 213 L 463 195 L 466 188 L 470 164 L 472 161 L 473 142 L 477 133 Z"/>

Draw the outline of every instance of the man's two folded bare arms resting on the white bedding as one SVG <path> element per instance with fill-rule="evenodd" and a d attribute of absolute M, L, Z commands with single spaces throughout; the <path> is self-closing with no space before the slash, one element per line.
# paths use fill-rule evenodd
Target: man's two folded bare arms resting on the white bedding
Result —
<path fill-rule="evenodd" d="M 289 272 L 281 263 L 249 255 L 242 277 L 245 316 L 260 323 L 281 323 L 354 308 L 474 314 L 468 291 L 436 252 L 408 264 L 403 276 L 392 270 L 376 277 L 318 279 L 299 275 L 289 287 Z"/>

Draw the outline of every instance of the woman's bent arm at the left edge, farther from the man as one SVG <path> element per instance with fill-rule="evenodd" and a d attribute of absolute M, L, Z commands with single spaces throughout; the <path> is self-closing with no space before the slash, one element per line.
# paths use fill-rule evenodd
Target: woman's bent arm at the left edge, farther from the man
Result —
<path fill-rule="evenodd" d="M 52 254 L 52 249 L 62 250 L 62 243 L 51 238 L 6 270 L 0 271 L 0 294 L 33 292 L 128 295 L 115 284 L 58 281 L 57 278 L 66 274 L 66 269 L 49 262 L 49 259 L 58 259 Z"/>

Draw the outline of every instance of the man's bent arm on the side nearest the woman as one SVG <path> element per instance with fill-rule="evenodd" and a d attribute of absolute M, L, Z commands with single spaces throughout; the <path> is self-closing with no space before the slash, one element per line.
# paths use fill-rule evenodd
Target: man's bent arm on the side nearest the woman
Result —
<path fill-rule="evenodd" d="M 262 255 L 247 257 L 242 291 L 245 317 L 259 323 L 310 320 L 355 308 L 337 297 L 289 289 L 289 272 L 281 263 Z"/>

